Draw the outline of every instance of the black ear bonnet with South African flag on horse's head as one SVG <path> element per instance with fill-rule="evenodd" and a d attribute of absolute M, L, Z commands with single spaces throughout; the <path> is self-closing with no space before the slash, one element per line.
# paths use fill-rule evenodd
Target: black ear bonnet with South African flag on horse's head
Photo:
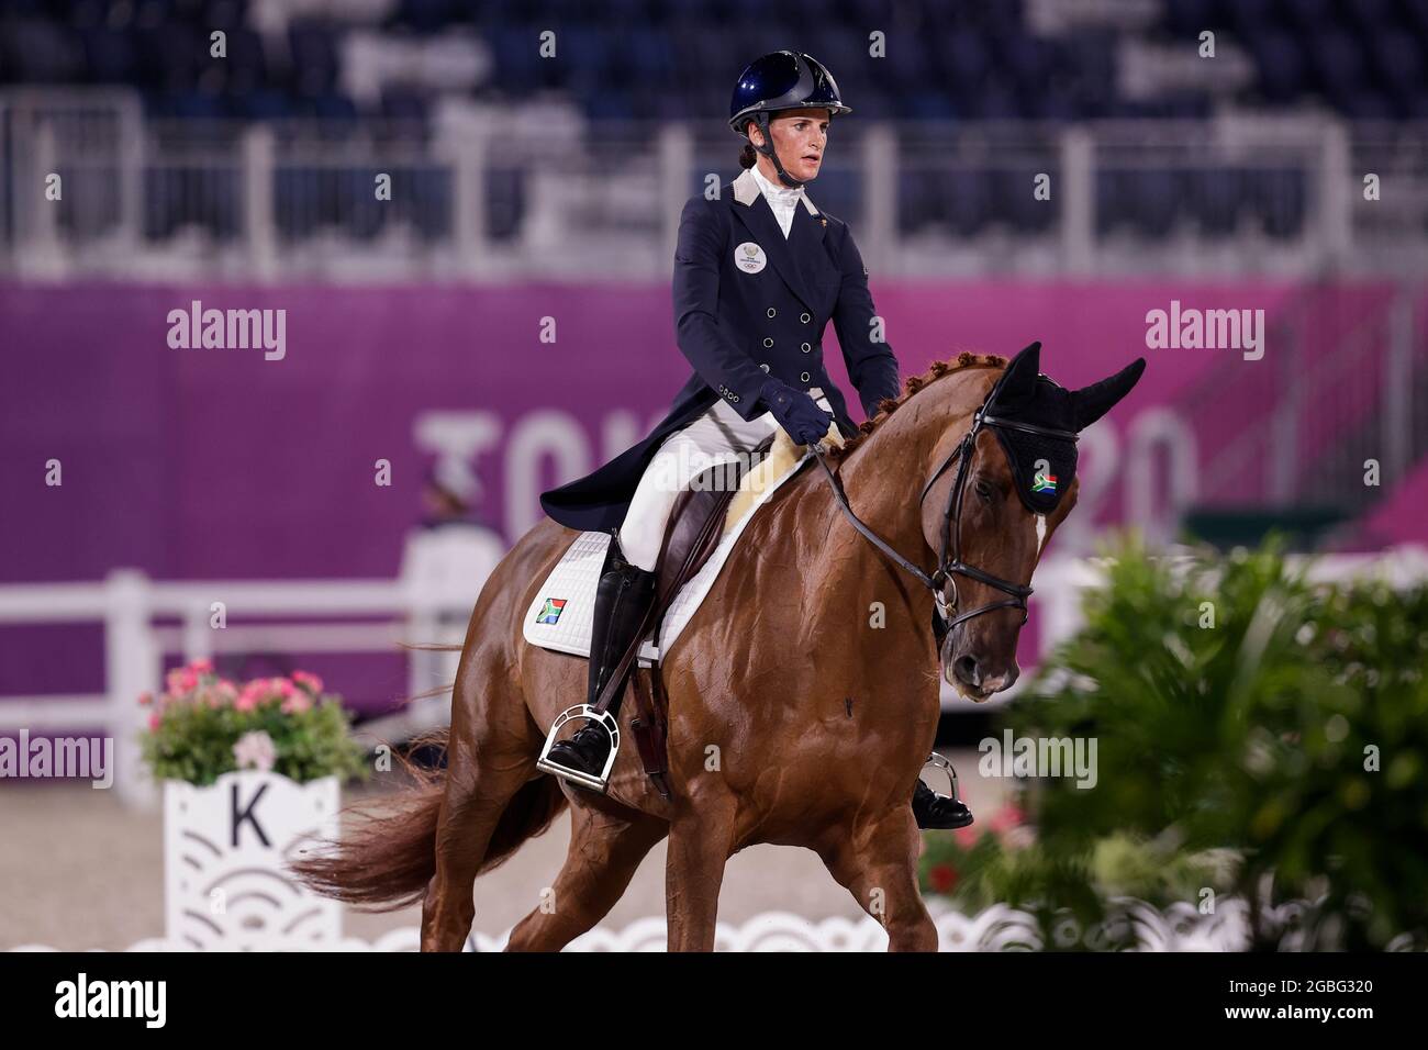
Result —
<path fill-rule="evenodd" d="M 1108 413 L 1145 371 L 1137 357 L 1110 379 L 1067 390 L 1040 374 L 1041 343 L 1011 359 L 987 396 L 985 414 L 1012 423 L 1080 431 Z M 1007 451 L 1017 496 L 1034 514 L 1050 514 L 1075 480 L 1077 444 L 1067 437 L 991 427 Z"/>

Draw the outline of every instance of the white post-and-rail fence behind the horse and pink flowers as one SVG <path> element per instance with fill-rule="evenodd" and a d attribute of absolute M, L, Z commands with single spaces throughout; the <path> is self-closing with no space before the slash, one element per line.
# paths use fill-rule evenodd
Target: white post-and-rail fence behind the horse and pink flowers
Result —
<path fill-rule="evenodd" d="M 1377 554 L 1319 557 L 1311 561 L 1309 579 L 1342 581 L 1374 574 L 1395 586 L 1428 579 L 1428 550 L 1405 546 Z M 1080 629 L 1081 591 L 1102 581 L 1104 563 L 1097 559 L 1052 557 L 1037 569 L 1031 606 L 1038 660 Z M 221 630 L 208 626 L 214 601 L 224 603 L 230 620 Z M 100 583 L 0 586 L 0 629 L 100 623 L 104 637 L 103 693 L 0 697 L 0 733 L 103 731 L 114 739 L 114 786 L 120 797 L 153 809 L 157 790 L 139 753 L 147 717 L 139 696 L 160 691 L 166 657 L 188 661 L 256 650 L 393 653 L 401 641 L 461 641 L 468 614 L 470 603 L 443 606 L 400 580 L 160 583 L 137 570 L 119 569 Z M 1014 699 L 1030 677 L 1022 674 L 1017 686 L 990 703 Z M 416 664 L 410 684 L 408 694 L 428 684 L 418 677 Z M 954 700 L 944 683 L 944 709 L 971 710 Z M 975 710 L 985 707 L 978 704 Z M 446 697 L 436 697 L 406 717 L 426 727 L 440 724 L 446 710 Z M 393 723 L 364 727 L 373 741 L 390 739 L 398 729 Z"/>

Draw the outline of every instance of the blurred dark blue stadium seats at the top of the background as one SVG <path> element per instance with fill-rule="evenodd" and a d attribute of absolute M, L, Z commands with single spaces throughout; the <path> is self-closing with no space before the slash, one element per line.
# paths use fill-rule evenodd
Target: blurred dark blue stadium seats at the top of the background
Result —
<path fill-rule="evenodd" d="M 0 84 L 121 83 L 141 93 L 154 117 L 313 119 L 334 137 L 360 117 L 380 117 L 424 134 L 440 89 L 393 74 L 354 97 L 344 80 L 346 49 L 354 33 L 367 33 L 378 49 L 450 40 L 480 69 L 461 93 L 498 103 L 554 90 L 593 121 L 715 123 L 743 64 L 780 46 L 825 61 L 860 119 L 1175 119 L 1205 117 L 1227 103 L 1318 106 L 1355 120 L 1428 117 L 1428 0 L 1164 0 L 1150 24 L 1104 16 L 1057 31 L 1037 31 L 1028 7 L 1021 0 L 921 9 L 891 0 L 0 0 Z M 885 33 L 887 57 L 870 57 L 867 37 L 850 26 Z M 208 54 L 217 29 L 227 33 L 221 61 Z M 1128 34 L 1192 54 L 1207 29 L 1217 47 L 1248 57 L 1252 76 L 1242 87 L 1225 94 L 1167 86 L 1151 97 L 1121 90 L 1118 47 Z M 557 33 L 558 61 L 538 51 L 544 30 Z M 985 173 L 907 173 L 904 189 L 918 191 L 904 194 L 898 221 L 942 223 L 960 234 L 995 223 L 1025 233 L 1045 227 L 1048 209 L 1030 207 L 1024 196 L 1000 201 L 985 183 Z M 1102 171 L 1097 191 L 1117 203 L 1100 210 L 1102 230 L 1160 236 L 1184 220 L 1201 236 L 1230 237 L 1250 217 L 1272 237 L 1291 237 L 1304 223 L 1305 189 L 1275 171 L 1177 176 L 1128 167 Z"/>

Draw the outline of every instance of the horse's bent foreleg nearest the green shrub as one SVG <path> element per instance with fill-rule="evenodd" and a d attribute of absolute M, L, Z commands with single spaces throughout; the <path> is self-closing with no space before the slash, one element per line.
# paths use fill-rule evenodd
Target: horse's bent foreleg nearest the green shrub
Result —
<path fill-rule="evenodd" d="M 917 820 L 902 806 L 818 854 L 864 911 L 888 931 L 888 951 L 937 951 L 937 927 L 917 889 Z"/>

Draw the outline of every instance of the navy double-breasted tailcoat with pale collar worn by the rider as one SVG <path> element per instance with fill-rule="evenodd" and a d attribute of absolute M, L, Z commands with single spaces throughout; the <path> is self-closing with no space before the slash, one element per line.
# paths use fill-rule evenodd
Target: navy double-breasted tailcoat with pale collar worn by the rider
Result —
<path fill-rule="evenodd" d="M 720 397 L 741 419 L 763 416 L 768 406 L 758 389 L 768 376 L 798 390 L 823 387 L 838 429 L 853 434 L 843 391 L 824 370 L 823 331 L 831 320 L 873 416 L 900 387 L 897 357 L 875 339 L 883 326 L 873 319 L 868 271 L 847 223 L 814 207 L 807 191 L 787 240 L 750 170 L 715 200 L 691 197 L 674 250 L 674 327 L 694 373 L 648 437 L 593 474 L 541 493 L 541 507 L 570 529 L 618 527 L 664 439 Z"/>

